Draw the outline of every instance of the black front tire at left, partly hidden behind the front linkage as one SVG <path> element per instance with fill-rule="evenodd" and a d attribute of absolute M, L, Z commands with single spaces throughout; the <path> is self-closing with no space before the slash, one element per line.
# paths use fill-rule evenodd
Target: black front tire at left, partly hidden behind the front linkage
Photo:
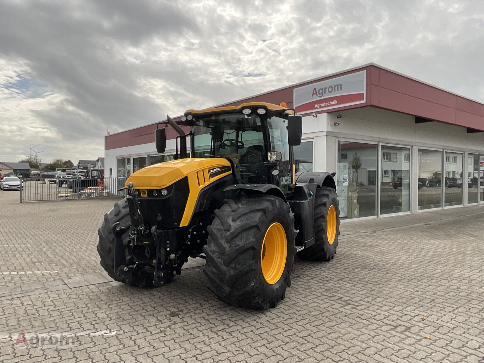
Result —
<path fill-rule="evenodd" d="M 101 228 L 98 229 L 99 242 L 97 245 L 97 252 L 99 253 L 101 266 L 106 270 L 107 274 L 116 281 L 137 287 L 151 287 L 153 286 L 153 275 L 147 272 L 138 272 L 138 275 L 129 279 L 123 279 L 114 272 L 114 244 L 115 237 L 111 230 L 112 226 L 119 222 L 119 227 L 126 227 L 131 225 L 129 215 L 128 202 L 123 199 L 114 203 L 113 209 L 104 215 L 104 222 Z M 128 233 L 123 236 L 123 244 L 126 246 L 129 243 Z"/>

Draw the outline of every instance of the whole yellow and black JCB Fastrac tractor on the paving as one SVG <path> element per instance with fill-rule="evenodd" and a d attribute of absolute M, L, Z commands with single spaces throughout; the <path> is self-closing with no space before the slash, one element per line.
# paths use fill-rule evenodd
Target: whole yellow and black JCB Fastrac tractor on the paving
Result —
<path fill-rule="evenodd" d="M 180 134 L 175 160 L 133 173 L 127 197 L 99 229 L 101 265 L 113 279 L 160 286 L 181 273 L 188 257 L 201 257 L 219 299 L 269 309 L 285 297 L 296 253 L 334 257 L 334 174 L 295 174 L 302 116 L 267 103 L 187 110 L 180 121 L 158 124 L 159 153 L 168 125 Z"/>

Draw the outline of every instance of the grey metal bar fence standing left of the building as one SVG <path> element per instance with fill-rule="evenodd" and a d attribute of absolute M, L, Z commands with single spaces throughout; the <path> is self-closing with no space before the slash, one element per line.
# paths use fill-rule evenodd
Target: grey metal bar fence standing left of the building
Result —
<path fill-rule="evenodd" d="M 126 178 L 97 179 L 43 179 L 40 181 L 22 181 L 20 188 L 20 202 L 40 200 L 72 200 L 122 198 L 126 190 Z"/>

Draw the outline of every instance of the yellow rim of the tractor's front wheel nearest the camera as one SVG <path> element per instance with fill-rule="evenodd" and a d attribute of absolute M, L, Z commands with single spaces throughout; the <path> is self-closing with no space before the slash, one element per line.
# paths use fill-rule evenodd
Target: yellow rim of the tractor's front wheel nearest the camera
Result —
<path fill-rule="evenodd" d="M 262 275 L 268 284 L 275 284 L 282 276 L 286 266 L 286 231 L 280 223 L 272 223 L 267 229 L 260 251 Z"/>

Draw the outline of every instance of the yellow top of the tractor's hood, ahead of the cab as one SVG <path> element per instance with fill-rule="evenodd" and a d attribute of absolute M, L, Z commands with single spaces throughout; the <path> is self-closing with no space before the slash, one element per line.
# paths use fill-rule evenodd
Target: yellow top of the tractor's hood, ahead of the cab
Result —
<path fill-rule="evenodd" d="M 188 158 L 166 161 L 144 167 L 130 175 L 125 186 L 133 183 L 135 189 L 160 189 L 179 181 L 193 172 L 230 166 L 227 159 Z M 207 170 L 208 172 L 208 170 Z"/>

